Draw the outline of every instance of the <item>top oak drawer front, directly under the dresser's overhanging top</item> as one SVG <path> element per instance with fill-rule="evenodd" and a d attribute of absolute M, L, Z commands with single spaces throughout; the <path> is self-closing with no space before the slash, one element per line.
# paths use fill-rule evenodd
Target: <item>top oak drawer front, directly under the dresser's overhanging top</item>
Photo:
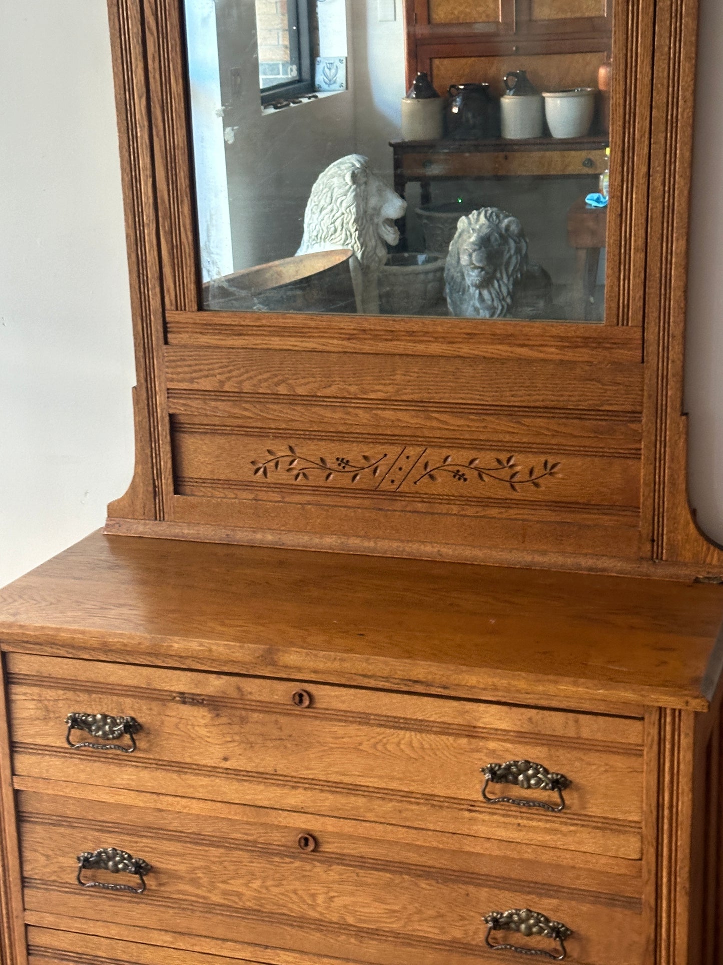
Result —
<path fill-rule="evenodd" d="M 641 854 L 640 720 L 24 654 L 6 660 L 18 775 Z M 135 718 L 135 753 L 70 749 L 66 718 L 77 712 Z M 78 730 L 70 738 L 108 742 Z M 481 768 L 522 759 L 570 781 L 563 811 L 550 810 L 560 806 L 556 791 L 501 781 L 487 797 L 524 804 L 483 800 Z"/>

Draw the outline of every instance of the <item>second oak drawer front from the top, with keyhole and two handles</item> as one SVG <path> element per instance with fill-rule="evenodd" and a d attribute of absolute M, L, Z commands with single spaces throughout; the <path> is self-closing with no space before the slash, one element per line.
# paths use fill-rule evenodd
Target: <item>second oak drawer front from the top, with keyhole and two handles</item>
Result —
<path fill-rule="evenodd" d="M 97 796 L 18 792 L 29 921 L 54 914 L 101 931 L 122 922 L 378 965 L 469 965 L 498 957 L 488 938 L 559 950 L 550 936 L 489 933 L 490 913 L 532 909 L 572 929 L 563 936 L 572 961 L 643 961 L 639 877 L 568 867 L 562 852 L 472 856 L 396 841 L 393 829 L 364 822 L 246 808 L 228 818 L 159 808 L 147 794 L 133 804 Z M 95 858 L 79 871 L 78 855 L 109 847 L 145 860 L 143 879 L 94 868 Z M 85 888 L 78 877 L 146 890 Z"/>

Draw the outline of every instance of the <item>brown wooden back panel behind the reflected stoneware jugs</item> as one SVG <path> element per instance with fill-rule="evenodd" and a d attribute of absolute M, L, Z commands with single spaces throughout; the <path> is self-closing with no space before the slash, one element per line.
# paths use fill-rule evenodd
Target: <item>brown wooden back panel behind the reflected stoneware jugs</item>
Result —
<path fill-rule="evenodd" d="M 504 91 L 503 77 L 510 70 L 526 70 L 540 91 L 598 87 L 598 69 L 606 59 L 603 49 L 575 54 L 509 54 L 502 57 L 437 57 L 432 60 L 432 81 L 441 95 L 450 84 L 490 84 L 496 96 Z"/>

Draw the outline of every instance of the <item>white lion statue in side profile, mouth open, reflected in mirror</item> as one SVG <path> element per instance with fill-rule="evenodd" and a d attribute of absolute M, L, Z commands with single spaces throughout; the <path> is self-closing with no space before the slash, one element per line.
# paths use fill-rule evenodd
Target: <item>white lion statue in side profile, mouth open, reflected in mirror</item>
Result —
<path fill-rule="evenodd" d="M 311 188 L 304 237 L 297 255 L 351 248 L 357 310 L 379 314 L 379 271 L 387 245 L 399 241 L 394 222 L 407 203 L 371 170 L 368 158 L 347 154 L 330 164 Z"/>

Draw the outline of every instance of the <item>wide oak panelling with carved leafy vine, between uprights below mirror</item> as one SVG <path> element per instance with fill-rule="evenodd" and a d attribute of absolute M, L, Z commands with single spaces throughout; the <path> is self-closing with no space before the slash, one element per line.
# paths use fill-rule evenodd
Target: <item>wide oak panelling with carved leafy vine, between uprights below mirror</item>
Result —
<path fill-rule="evenodd" d="M 556 326 L 538 326 L 526 358 L 516 356 L 515 326 L 441 357 L 425 354 L 423 337 L 405 345 L 403 328 L 395 347 L 404 354 L 389 354 L 372 350 L 373 332 L 355 350 L 341 341 L 306 350 L 301 339 L 283 349 L 260 347 L 269 333 L 240 325 L 225 336 L 222 322 L 199 345 L 182 320 L 165 353 L 170 524 L 201 534 L 223 526 L 240 541 L 265 532 L 273 542 L 277 532 L 297 545 L 323 537 L 353 547 L 378 533 L 456 558 L 510 539 L 531 552 L 636 557 L 633 330 L 601 326 L 600 344 L 583 347 L 571 327 L 576 361 L 562 361 Z M 334 323 L 315 338 L 334 341 Z M 603 343 L 614 362 L 601 361 Z"/>

